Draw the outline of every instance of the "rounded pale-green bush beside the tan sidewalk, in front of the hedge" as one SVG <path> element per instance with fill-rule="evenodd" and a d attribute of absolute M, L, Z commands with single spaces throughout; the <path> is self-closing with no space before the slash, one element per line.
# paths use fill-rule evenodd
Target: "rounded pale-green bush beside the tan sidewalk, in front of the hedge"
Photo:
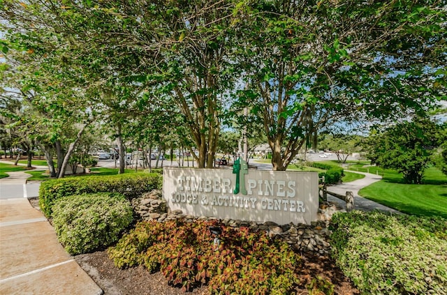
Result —
<path fill-rule="evenodd" d="M 72 255 L 115 243 L 133 221 L 131 203 L 107 192 L 58 199 L 52 215 L 57 238 Z"/>

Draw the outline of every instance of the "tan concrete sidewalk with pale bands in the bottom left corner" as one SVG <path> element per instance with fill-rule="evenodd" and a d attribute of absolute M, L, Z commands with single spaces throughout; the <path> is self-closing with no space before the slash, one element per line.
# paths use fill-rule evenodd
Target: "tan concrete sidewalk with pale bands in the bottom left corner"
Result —
<path fill-rule="evenodd" d="M 0 199 L 0 294 L 103 294 L 28 199 Z"/>

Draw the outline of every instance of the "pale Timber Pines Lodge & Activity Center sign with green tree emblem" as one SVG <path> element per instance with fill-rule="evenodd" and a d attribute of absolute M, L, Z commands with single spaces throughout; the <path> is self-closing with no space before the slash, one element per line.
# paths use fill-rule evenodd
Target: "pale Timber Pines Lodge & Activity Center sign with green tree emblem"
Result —
<path fill-rule="evenodd" d="M 317 220 L 318 173 L 231 169 L 163 169 L 163 196 L 171 210 L 195 216 L 277 224 Z"/>

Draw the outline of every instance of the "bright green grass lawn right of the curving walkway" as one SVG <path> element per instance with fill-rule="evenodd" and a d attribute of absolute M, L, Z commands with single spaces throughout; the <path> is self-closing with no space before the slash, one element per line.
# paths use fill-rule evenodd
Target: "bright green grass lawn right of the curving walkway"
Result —
<path fill-rule="evenodd" d="M 362 188 L 359 195 L 403 213 L 447 218 L 447 176 L 439 169 L 428 168 L 424 184 L 405 184 L 401 174 L 383 173 L 382 181 Z"/>

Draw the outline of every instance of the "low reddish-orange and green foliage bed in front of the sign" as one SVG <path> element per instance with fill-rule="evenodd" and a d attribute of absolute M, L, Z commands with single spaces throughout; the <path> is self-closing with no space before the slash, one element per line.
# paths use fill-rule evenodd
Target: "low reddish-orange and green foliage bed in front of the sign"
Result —
<path fill-rule="evenodd" d="M 215 250 L 210 225 L 216 222 L 140 222 L 108 253 L 117 267 L 161 271 L 184 291 L 207 284 L 211 294 L 287 294 L 298 283 L 298 257 L 286 243 L 223 227 Z"/>

